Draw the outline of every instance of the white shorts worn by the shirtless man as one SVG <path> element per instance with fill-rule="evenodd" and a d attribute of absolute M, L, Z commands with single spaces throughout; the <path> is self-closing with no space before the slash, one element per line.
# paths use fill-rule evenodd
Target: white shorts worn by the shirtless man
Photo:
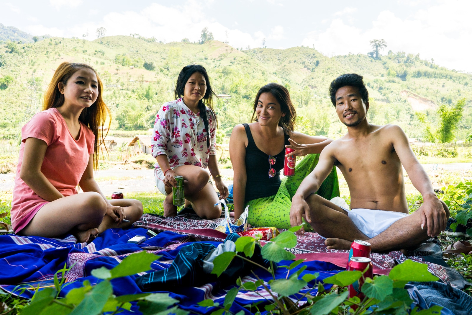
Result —
<path fill-rule="evenodd" d="M 354 222 L 354 225 L 368 238 L 373 238 L 394 222 L 405 218 L 408 214 L 396 211 L 372 210 L 372 209 L 352 209 L 347 210 L 347 216 Z"/>

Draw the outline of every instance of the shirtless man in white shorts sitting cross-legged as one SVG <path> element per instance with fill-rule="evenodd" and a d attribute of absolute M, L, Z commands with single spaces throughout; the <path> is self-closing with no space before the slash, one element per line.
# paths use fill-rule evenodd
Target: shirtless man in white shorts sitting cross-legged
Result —
<path fill-rule="evenodd" d="M 291 225 L 301 224 L 303 217 L 326 238 L 329 249 L 349 249 L 354 239 L 362 239 L 376 252 L 414 249 L 445 230 L 449 210 L 434 193 L 403 130 L 367 121 L 369 93 L 362 77 L 337 77 L 329 93 L 347 134 L 323 149 L 318 165 L 296 191 Z M 351 211 L 314 194 L 333 165 L 349 186 Z M 423 204 L 410 215 L 402 165 L 423 196 Z"/>

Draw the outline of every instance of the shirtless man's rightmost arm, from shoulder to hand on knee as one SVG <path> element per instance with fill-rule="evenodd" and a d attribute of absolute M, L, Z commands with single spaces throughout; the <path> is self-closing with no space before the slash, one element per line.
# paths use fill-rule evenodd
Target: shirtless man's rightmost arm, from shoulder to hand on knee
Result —
<path fill-rule="evenodd" d="M 421 229 L 428 227 L 428 236 L 434 237 L 446 229 L 447 215 L 443 204 L 434 193 L 431 180 L 424 171 L 420 162 L 416 159 L 408 138 L 402 128 L 388 126 L 388 134 L 391 135 L 393 147 L 408 174 L 413 186 L 423 196 L 423 204 L 416 211 L 421 211 Z"/>

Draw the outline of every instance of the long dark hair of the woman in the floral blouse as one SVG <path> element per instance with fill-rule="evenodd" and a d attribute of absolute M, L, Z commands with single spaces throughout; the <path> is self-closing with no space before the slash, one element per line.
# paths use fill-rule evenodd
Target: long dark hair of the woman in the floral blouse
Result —
<path fill-rule="evenodd" d="M 198 108 L 200 109 L 200 117 L 203 119 L 205 129 L 207 131 L 207 146 L 210 148 L 210 128 L 208 127 L 208 117 L 206 107 L 210 109 L 210 115 L 216 121 L 218 128 L 218 119 L 216 118 L 215 110 L 213 109 L 213 96 L 218 97 L 213 89 L 211 88 L 210 78 L 206 72 L 206 69 L 201 65 L 189 65 L 182 68 L 177 77 L 176 88 L 174 90 L 174 97 L 177 99 L 184 96 L 185 84 L 188 79 L 195 73 L 201 73 L 205 78 L 207 89 L 203 98 L 198 102 Z"/>

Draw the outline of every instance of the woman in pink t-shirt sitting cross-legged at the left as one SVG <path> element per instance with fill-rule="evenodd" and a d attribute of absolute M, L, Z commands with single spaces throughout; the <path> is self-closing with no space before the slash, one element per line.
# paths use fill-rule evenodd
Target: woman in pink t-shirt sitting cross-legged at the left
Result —
<path fill-rule="evenodd" d="M 101 94 L 101 80 L 89 65 L 63 62 L 56 69 L 43 111 L 21 129 L 11 209 L 17 234 L 72 233 L 90 242 L 106 229 L 129 227 L 143 214 L 138 200 L 107 200 L 93 179 L 99 130 L 110 116 Z M 84 193 L 77 193 L 77 185 Z M 121 224 L 123 219 L 129 222 Z"/>

